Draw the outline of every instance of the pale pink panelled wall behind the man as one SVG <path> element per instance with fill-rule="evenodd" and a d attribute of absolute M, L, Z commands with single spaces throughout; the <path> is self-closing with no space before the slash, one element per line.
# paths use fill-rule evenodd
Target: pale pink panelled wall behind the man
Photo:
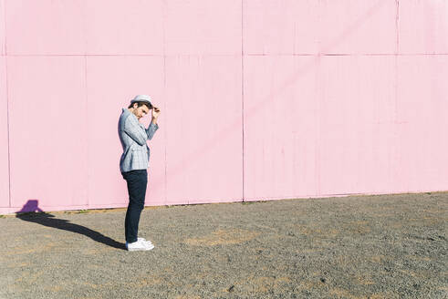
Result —
<path fill-rule="evenodd" d="M 448 2 L 0 0 L 0 212 L 448 190 Z M 145 120 L 146 124 L 150 119 Z"/>

